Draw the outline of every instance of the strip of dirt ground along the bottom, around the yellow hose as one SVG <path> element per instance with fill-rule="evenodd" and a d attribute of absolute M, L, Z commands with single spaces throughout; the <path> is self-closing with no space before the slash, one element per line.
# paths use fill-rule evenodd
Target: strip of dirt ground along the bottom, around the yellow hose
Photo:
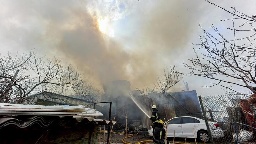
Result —
<path fill-rule="evenodd" d="M 105 143 L 107 143 L 107 135 L 105 134 Z M 120 135 L 120 134 L 112 134 L 111 138 L 110 138 L 110 142 L 111 143 L 122 143 L 122 138 L 124 138 L 125 135 Z M 127 142 L 129 143 L 137 143 L 140 141 L 146 141 L 146 140 L 152 140 L 151 136 L 143 136 L 143 135 L 135 135 L 133 137 L 127 138 Z M 173 138 L 168 138 L 168 141 L 173 141 Z M 101 134 L 100 136 L 100 142 L 102 144 L 103 142 L 103 134 Z M 184 143 L 184 138 L 175 138 L 175 142 L 182 142 Z M 194 138 L 187 138 L 186 143 L 188 144 L 195 144 L 195 139 Z M 197 144 L 201 144 L 200 142 L 198 142 L 197 140 Z"/>

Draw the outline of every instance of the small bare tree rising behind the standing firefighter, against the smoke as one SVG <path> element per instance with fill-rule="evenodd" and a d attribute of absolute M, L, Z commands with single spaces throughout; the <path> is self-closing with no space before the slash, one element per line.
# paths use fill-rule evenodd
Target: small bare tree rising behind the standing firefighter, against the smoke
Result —
<path fill-rule="evenodd" d="M 149 109 L 151 109 L 153 104 L 158 107 L 163 101 L 164 94 L 167 93 L 175 84 L 181 81 L 181 79 L 182 76 L 174 71 L 174 67 L 170 67 L 170 69 L 167 68 L 167 70 L 163 69 L 163 75 L 161 77 L 157 77 L 156 82 L 154 83 L 155 87 L 153 89 L 148 88 L 146 90 L 139 90 L 136 88 L 138 94 L 142 98 L 141 103 Z"/>

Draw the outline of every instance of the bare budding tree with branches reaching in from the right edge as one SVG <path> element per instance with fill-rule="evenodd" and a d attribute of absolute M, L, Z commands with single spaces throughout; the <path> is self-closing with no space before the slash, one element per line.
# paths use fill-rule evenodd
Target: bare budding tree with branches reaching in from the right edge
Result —
<path fill-rule="evenodd" d="M 235 8 L 226 10 L 210 1 L 206 2 L 231 15 L 229 19 L 221 20 L 227 23 L 227 31 L 220 31 L 212 24 L 211 31 L 214 33 L 211 33 L 199 25 L 204 35 L 199 36 L 201 43 L 194 44 L 198 46 L 194 48 L 196 58 L 189 59 L 191 64 L 184 63 L 191 72 L 177 73 L 216 80 L 216 83 L 206 87 L 219 85 L 225 90 L 227 88 L 233 93 L 240 93 L 232 88 L 237 85 L 256 94 L 256 89 L 252 86 L 256 84 L 256 16 L 246 15 Z"/>

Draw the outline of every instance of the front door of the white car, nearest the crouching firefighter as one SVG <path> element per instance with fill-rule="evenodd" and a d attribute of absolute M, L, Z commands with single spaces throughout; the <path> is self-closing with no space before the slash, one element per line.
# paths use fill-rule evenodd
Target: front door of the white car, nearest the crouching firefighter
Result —
<path fill-rule="evenodd" d="M 173 137 L 175 131 L 175 137 L 183 136 L 181 118 L 173 118 L 168 123 L 167 136 Z"/>

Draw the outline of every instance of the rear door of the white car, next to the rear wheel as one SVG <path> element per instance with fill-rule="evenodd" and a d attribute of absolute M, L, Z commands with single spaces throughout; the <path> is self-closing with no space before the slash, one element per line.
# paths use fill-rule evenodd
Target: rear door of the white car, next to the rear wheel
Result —
<path fill-rule="evenodd" d="M 182 133 L 183 136 L 194 137 L 194 131 L 196 131 L 200 121 L 195 118 L 183 117 L 182 118 Z"/>

